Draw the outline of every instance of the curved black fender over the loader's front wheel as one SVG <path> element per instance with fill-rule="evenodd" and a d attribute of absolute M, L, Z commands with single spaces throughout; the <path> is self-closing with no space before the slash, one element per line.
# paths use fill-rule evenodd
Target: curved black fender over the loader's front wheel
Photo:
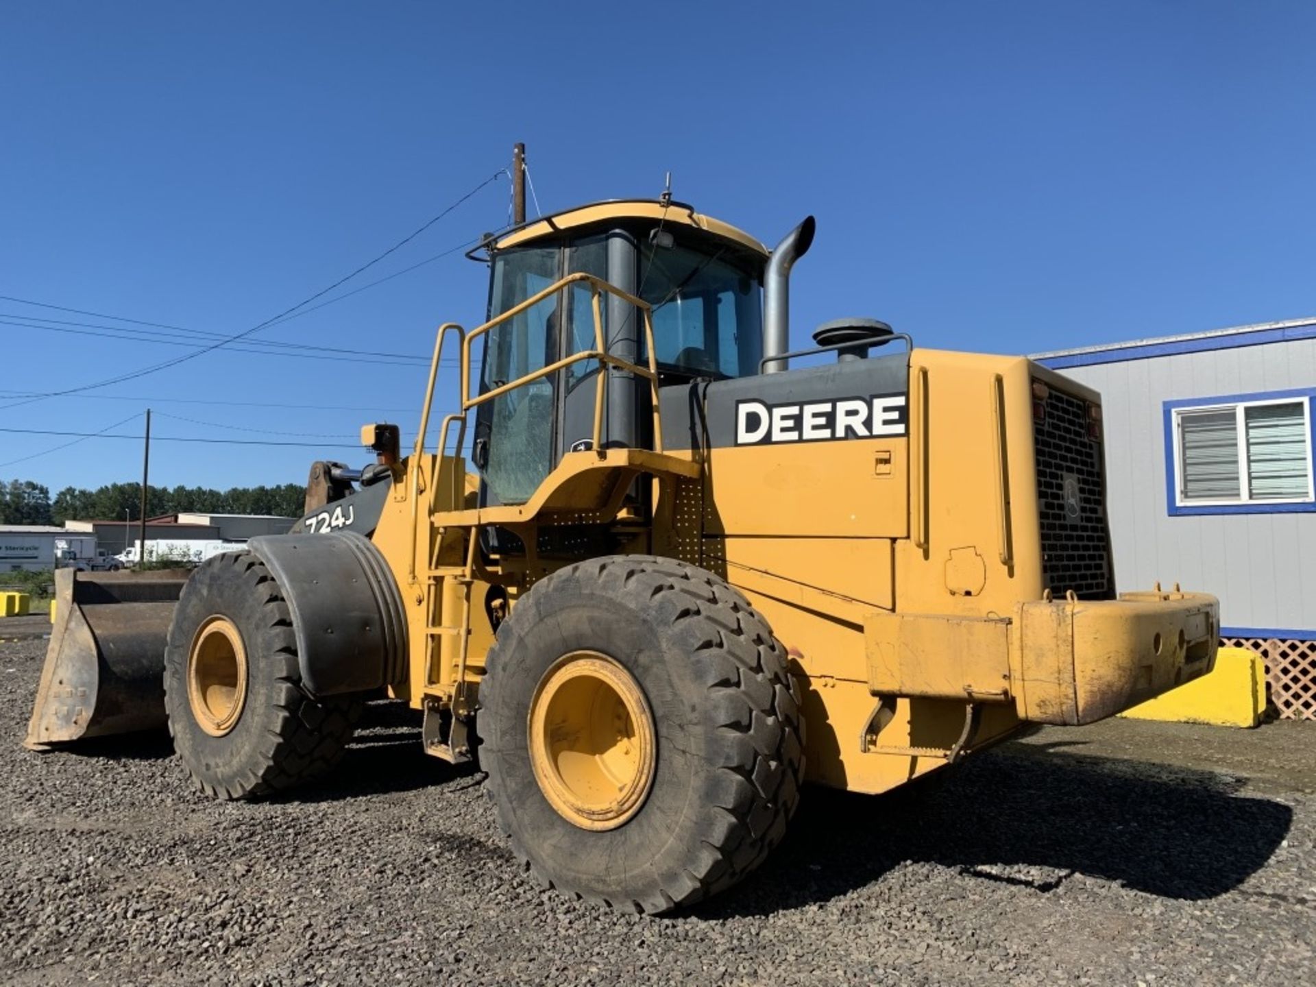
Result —
<path fill-rule="evenodd" d="M 292 613 L 301 686 L 366 692 L 407 672 L 407 613 L 383 553 L 362 534 L 265 534 L 247 542 Z"/>

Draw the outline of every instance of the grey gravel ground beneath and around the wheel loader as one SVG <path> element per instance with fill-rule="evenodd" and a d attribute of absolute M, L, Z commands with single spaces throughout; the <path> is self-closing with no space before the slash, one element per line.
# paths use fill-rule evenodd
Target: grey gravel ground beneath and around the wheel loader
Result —
<path fill-rule="evenodd" d="M 1313 983 L 1316 724 L 1042 730 L 884 797 L 811 788 L 676 917 L 541 892 L 480 775 L 376 704 L 328 783 L 221 804 L 167 738 L 20 741 L 0 644 L 0 979 L 37 983 Z"/>

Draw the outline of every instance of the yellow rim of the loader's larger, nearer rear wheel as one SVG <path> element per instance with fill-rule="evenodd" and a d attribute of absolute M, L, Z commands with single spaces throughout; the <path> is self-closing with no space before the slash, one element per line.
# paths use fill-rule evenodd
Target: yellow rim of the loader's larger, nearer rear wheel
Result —
<path fill-rule="evenodd" d="M 530 765 L 549 804 L 582 829 L 616 829 L 644 805 L 658 745 L 629 671 L 572 651 L 544 674 L 529 716 Z"/>

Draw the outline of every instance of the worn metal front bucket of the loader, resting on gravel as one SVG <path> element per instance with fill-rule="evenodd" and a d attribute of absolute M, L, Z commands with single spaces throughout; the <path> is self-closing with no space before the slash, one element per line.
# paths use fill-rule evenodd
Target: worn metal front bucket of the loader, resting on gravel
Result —
<path fill-rule="evenodd" d="M 164 725 L 164 644 L 188 574 L 55 571 L 55 622 L 25 746 Z"/>

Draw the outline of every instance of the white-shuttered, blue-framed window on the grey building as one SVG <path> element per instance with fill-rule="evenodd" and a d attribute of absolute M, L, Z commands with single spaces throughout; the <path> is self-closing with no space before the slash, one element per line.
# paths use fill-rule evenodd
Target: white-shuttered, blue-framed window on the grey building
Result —
<path fill-rule="evenodd" d="M 1316 509 L 1311 399 L 1166 401 L 1170 513 Z"/>

